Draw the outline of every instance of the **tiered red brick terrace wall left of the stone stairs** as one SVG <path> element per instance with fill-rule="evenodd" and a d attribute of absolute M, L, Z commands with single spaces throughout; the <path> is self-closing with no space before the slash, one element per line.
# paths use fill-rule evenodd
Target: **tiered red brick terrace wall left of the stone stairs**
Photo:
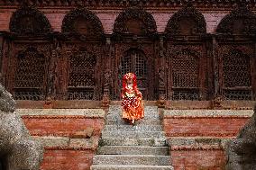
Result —
<path fill-rule="evenodd" d="M 18 109 L 44 146 L 41 170 L 89 170 L 105 125 L 102 109 Z"/>

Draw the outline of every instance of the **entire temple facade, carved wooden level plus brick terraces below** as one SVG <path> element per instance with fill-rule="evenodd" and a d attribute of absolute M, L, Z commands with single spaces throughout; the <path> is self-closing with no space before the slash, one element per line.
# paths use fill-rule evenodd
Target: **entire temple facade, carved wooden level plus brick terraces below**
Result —
<path fill-rule="evenodd" d="M 60 152 L 66 162 L 55 169 L 89 168 L 128 72 L 163 113 L 174 168 L 224 168 L 223 141 L 256 100 L 255 11 L 253 0 L 0 0 L 0 83 L 32 136 L 72 144 L 41 139 L 41 169 L 61 165 Z M 80 133 L 87 127 L 94 132 Z M 91 148 L 72 140 L 84 137 Z M 187 137 L 192 148 L 172 140 Z M 87 164 L 69 166 L 72 154 Z"/>

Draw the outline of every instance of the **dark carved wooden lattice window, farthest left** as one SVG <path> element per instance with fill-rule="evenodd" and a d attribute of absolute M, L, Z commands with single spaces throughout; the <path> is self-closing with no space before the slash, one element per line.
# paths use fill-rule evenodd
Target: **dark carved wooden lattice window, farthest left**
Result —
<path fill-rule="evenodd" d="M 45 58 L 36 49 L 18 54 L 14 76 L 14 99 L 43 100 Z"/>

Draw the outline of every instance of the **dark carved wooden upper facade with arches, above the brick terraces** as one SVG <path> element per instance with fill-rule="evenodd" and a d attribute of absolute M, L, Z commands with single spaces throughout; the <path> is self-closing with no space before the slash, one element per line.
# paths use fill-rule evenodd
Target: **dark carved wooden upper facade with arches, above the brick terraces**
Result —
<path fill-rule="evenodd" d="M 127 72 L 145 100 L 255 100 L 252 3 L 58 2 L 1 3 L 16 100 L 119 100 Z"/>

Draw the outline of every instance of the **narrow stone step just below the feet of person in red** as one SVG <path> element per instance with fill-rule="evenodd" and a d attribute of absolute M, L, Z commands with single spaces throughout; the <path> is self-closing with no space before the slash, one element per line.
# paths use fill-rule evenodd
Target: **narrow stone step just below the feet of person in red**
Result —
<path fill-rule="evenodd" d="M 161 125 L 105 125 L 104 130 L 125 130 L 125 131 L 161 131 Z"/>

